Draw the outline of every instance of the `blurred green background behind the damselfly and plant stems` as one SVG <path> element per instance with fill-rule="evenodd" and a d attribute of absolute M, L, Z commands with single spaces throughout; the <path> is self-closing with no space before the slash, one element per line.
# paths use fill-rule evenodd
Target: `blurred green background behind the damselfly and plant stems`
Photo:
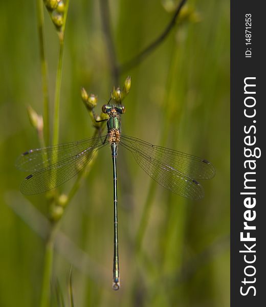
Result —
<path fill-rule="evenodd" d="M 118 62 L 156 39 L 177 4 L 109 1 Z M 0 306 L 38 306 L 47 204 L 43 194 L 19 192 L 28 173 L 14 167 L 21 152 L 39 147 L 26 111 L 31 105 L 43 112 L 36 1 L 2 1 L 0 8 Z M 115 292 L 112 160 L 102 149 L 62 216 L 52 306 L 58 306 L 56 280 L 69 304 L 71 265 L 75 306 L 230 305 L 229 27 L 229 1 L 188 1 L 166 40 L 120 76 L 121 86 L 127 75 L 132 78 L 123 132 L 210 160 L 216 176 L 202 182 L 205 198 L 189 201 L 153 184 L 131 153 L 119 149 L 121 289 Z M 114 85 L 99 2 L 70 0 L 65 31 L 60 143 L 94 133 L 81 86 L 98 95 L 100 113 Z M 58 37 L 46 10 L 45 38 L 52 111 Z M 74 182 L 58 190 L 68 193 Z"/>

